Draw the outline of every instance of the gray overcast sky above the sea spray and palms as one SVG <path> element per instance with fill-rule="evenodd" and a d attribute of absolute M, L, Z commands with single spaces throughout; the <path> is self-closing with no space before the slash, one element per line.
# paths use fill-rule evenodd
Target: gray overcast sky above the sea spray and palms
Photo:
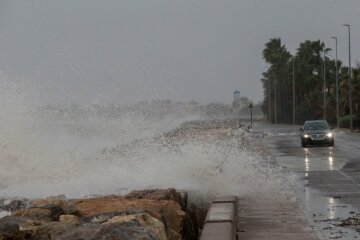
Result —
<path fill-rule="evenodd" d="M 360 60 L 359 0 L 0 0 L 0 71 L 44 103 L 262 100 L 261 52 L 339 38 Z M 335 53 L 331 53 L 335 55 Z"/>

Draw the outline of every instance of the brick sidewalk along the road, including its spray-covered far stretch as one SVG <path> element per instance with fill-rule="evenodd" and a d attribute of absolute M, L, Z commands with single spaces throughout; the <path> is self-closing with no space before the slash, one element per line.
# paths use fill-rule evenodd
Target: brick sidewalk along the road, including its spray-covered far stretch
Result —
<path fill-rule="evenodd" d="M 295 129 L 295 128 L 294 128 Z M 263 139 L 264 157 L 270 168 L 278 168 L 276 159 Z M 239 199 L 239 240 L 252 239 L 322 239 L 314 231 L 311 216 L 305 210 L 291 186 L 286 173 L 270 171 L 269 186 L 261 187 L 260 193 Z M 275 180 L 274 180 L 275 179 Z"/>

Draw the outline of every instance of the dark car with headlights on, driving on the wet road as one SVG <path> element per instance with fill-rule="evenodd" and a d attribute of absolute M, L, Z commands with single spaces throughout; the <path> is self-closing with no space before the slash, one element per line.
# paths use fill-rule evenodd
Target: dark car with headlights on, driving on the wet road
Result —
<path fill-rule="evenodd" d="M 334 135 L 331 127 L 325 120 L 306 121 L 300 128 L 301 146 L 328 144 L 334 146 Z"/>

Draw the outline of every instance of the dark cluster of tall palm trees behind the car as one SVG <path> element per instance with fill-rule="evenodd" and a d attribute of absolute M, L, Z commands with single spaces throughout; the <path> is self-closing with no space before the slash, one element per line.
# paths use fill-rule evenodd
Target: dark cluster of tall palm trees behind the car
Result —
<path fill-rule="evenodd" d="M 296 123 L 301 124 L 305 120 L 324 118 L 325 74 L 325 118 L 331 124 L 336 124 L 336 68 L 335 60 L 330 59 L 333 58 L 329 54 L 330 50 L 320 40 L 307 40 L 300 43 L 295 55 L 292 56 L 285 45 L 282 45 L 280 38 L 270 39 L 265 44 L 262 53 L 268 69 L 261 79 L 264 89 L 262 110 L 270 122 L 275 122 L 275 115 L 277 123 L 292 122 L 294 64 Z M 337 66 L 341 118 L 349 115 L 349 74 L 348 67 L 342 66 L 341 61 L 338 60 Z M 353 68 L 352 72 L 352 104 L 355 120 L 360 119 L 360 65 Z"/>

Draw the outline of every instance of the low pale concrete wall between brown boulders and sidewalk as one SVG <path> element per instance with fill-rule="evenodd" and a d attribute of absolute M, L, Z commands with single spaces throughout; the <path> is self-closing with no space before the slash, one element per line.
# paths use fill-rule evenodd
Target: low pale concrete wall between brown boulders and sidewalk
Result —
<path fill-rule="evenodd" d="M 200 240 L 237 239 L 236 196 L 221 196 L 214 199 L 206 215 Z"/>

